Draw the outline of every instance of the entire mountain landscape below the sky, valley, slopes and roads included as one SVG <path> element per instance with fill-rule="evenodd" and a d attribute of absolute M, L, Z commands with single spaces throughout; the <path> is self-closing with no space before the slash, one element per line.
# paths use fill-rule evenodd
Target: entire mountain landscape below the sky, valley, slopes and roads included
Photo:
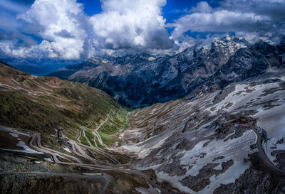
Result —
<path fill-rule="evenodd" d="M 285 193 L 284 56 L 225 36 L 43 77 L 1 62 L 0 193 Z"/>

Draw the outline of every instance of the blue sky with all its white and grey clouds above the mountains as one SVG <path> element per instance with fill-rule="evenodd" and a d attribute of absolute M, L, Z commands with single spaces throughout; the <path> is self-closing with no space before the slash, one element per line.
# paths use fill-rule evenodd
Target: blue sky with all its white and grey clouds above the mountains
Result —
<path fill-rule="evenodd" d="M 0 58 L 173 54 L 227 34 L 278 43 L 285 0 L 0 0 Z"/>

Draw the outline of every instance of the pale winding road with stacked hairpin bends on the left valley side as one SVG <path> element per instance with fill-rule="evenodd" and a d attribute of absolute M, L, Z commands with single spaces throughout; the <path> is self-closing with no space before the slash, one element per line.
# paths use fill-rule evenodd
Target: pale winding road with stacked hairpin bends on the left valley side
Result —
<path fill-rule="evenodd" d="M 118 114 L 118 112 L 117 112 L 117 114 Z M 98 140 L 100 139 L 100 141 L 102 141 L 102 139 L 100 138 L 100 135 L 98 134 L 97 130 L 100 129 L 100 127 L 103 126 L 103 124 L 105 124 L 105 122 L 108 122 L 108 119 L 111 119 L 109 114 L 108 114 L 107 118 L 105 119 L 105 121 L 102 122 L 100 124 L 100 126 L 98 126 L 97 129 L 95 129 L 95 134 L 96 134 Z M 36 151 L 41 151 L 43 153 L 50 154 L 54 163 L 60 163 L 62 165 L 80 166 L 80 167 L 89 168 L 89 169 L 93 168 L 93 169 L 97 169 L 100 171 L 117 171 L 117 172 L 121 172 L 121 173 L 128 173 L 128 174 L 131 174 L 133 176 L 138 176 L 142 179 L 145 179 L 145 181 L 147 181 L 147 183 L 150 185 L 151 188 L 153 188 L 155 190 L 160 190 L 160 193 L 166 193 L 166 194 L 171 193 L 170 190 L 172 190 L 172 188 L 170 186 L 169 186 L 169 188 L 167 188 L 168 186 L 162 185 L 162 183 L 155 180 L 155 178 L 148 176 L 146 173 L 143 173 L 142 171 L 139 171 L 139 170 L 134 170 L 130 164 L 121 165 L 115 158 L 110 156 L 108 153 L 105 153 L 105 151 L 103 149 L 100 149 L 98 147 L 94 147 L 91 144 L 90 144 L 90 146 L 85 146 L 85 145 L 81 144 L 81 141 L 80 141 L 81 134 L 83 134 L 83 136 L 86 137 L 84 130 L 85 129 L 83 127 L 81 127 L 81 131 L 79 131 L 79 134 L 77 137 L 79 144 L 77 144 L 73 140 L 69 140 L 68 143 L 71 144 L 72 151 L 76 156 L 78 156 L 78 158 L 85 158 L 87 161 L 90 161 L 90 163 L 83 163 L 77 157 L 70 156 L 66 153 L 62 153 L 61 151 L 48 149 L 48 148 L 42 146 L 41 145 L 41 134 L 40 133 L 31 134 L 31 139 L 28 141 L 28 146 L 30 146 L 31 149 L 34 149 Z M 86 139 L 87 139 L 87 137 L 86 137 Z M 103 142 L 102 142 L 102 144 L 103 144 Z M 83 151 L 83 149 L 81 149 L 81 147 L 86 149 L 88 154 L 85 151 Z M 95 155 L 93 154 L 93 151 L 100 153 L 102 156 L 105 156 L 106 158 L 108 158 L 109 161 L 111 161 L 115 165 L 113 165 L 113 166 L 107 165 L 108 161 L 99 160 L 98 158 L 95 157 Z M 67 161 L 70 161 L 70 162 L 61 161 L 61 160 L 59 160 L 59 158 L 65 158 Z M 98 164 L 98 162 L 101 162 L 101 163 L 103 162 L 104 164 L 103 165 Z M 21 172 L 19 172 L 19 173 L 21 173 Z M 0 174 L 3 174 L 3 172 Z M 9 173 L 7 173 L 7 174 L 9 174 Z M 84 176 L 82 174 L 76 174 L 76 173 L 26 172 L 26 174 L 42 174 L 45 176 L 71 176 L 71 177 L 78 177 L 78 178 L 88 177 L 88 176 Z M 97 177 L 93 177 L 93 178 L 96 179 Z M 105 190 L 108 188 L 108 185 L 110 183 L 110 177 L 104 178 L 104 177 L 100 176 L 98 178 L 103 178 L 105 180 L 105 185 L 100 192 L 100 193 L 105 193 Z"/>

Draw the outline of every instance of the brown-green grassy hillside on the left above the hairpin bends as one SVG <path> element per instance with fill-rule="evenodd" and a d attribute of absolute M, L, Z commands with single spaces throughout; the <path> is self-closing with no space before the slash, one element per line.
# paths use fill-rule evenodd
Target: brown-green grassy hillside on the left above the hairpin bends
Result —
<path fill-rule="evenodd" d="M 126 110 L 101 90 L 56 77 L 37 77 L 0 62 L 0 124 L 51 134 L 61 126 L 76 139 L 80 126 L 93 141 L 93 129 L 105 121 L 103 142 L 125 129 Z M 98 130 L 99 133 L 100 130 Z M 83 141 L 83 143 L 85 143 Z"/>

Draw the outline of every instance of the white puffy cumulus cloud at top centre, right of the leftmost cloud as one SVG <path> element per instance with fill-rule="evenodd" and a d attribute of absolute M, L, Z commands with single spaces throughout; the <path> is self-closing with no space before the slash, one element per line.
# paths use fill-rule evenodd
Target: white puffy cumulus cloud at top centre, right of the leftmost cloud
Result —
<path fill-rule="evenodd" d="M 109 49 L 168 49 L 161 7 L 165 0 L 105 0 L 102 13 L 90 18 L 95 45 Z"/>

